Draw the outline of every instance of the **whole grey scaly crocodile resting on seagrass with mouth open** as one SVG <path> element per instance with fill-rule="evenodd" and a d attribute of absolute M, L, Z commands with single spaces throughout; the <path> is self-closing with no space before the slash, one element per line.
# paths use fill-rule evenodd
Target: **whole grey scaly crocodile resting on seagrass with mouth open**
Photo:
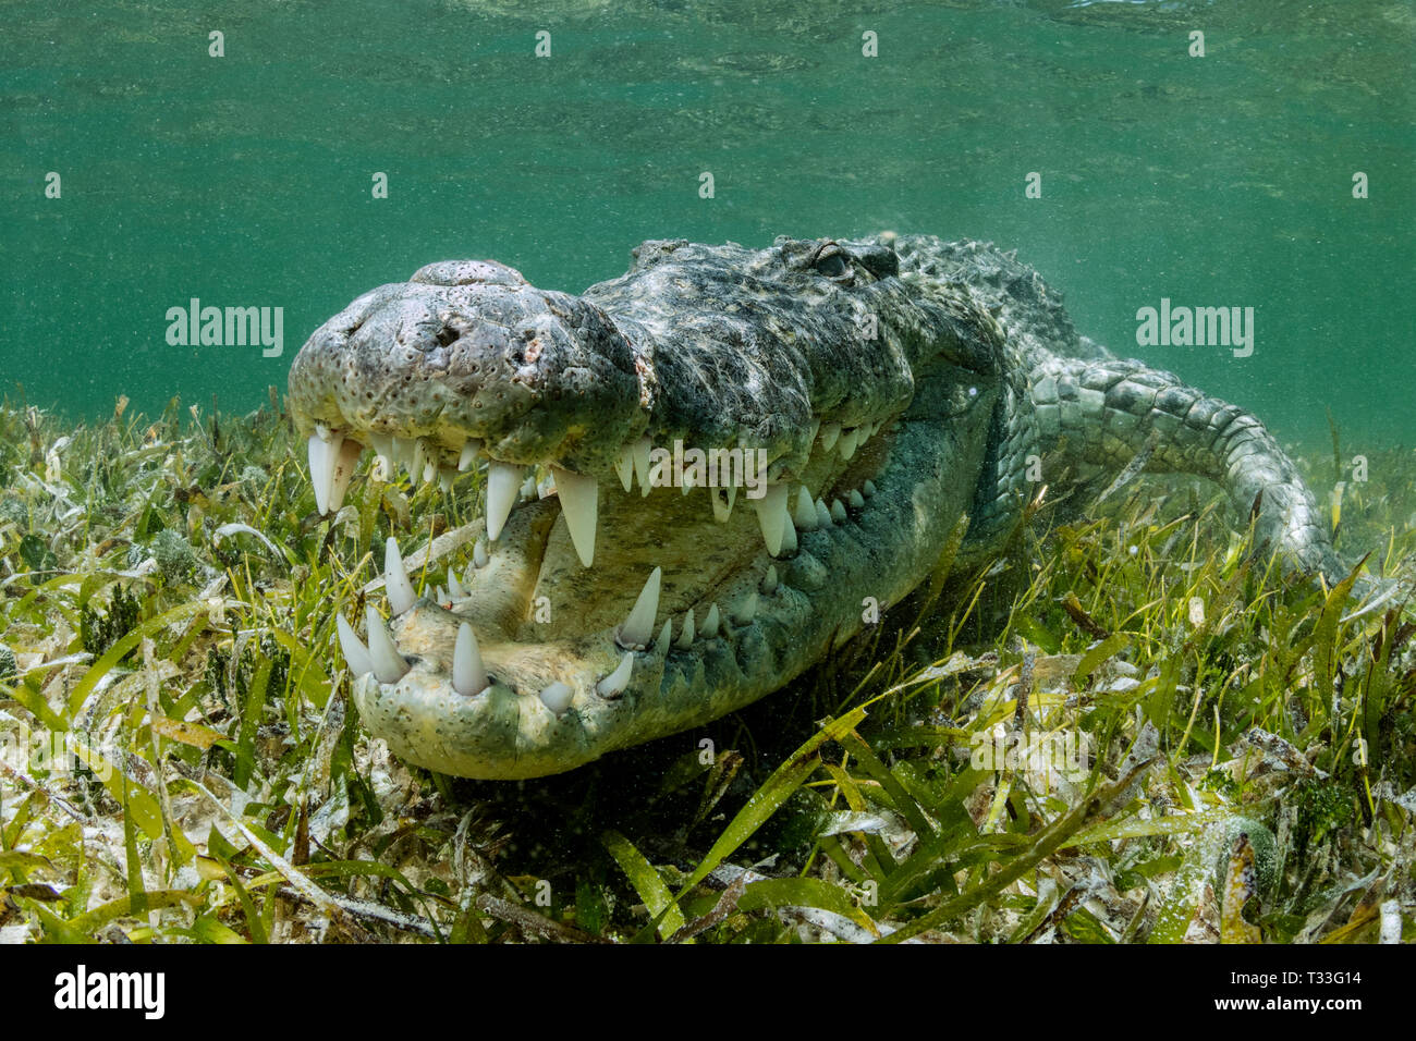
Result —
<path fill-rule="evenodd" d="M 632 254 L 579 296 L 430 263 L 292 363 L 320 514 L 370 450 L 372 479 L 486 469 L 466 575 L 418 595 L 389 538 L 387 620 L 337 618 L 365 728 L 413 763 L 534 778 L 702 725 L 850 640 L 944 547 L 986 564 L 1044 491 L 1085 504 L 1141 469 L 1216 482 L 1270 559 L 1341 574 L 1263 423 L 1080 336 L 1015 251 Z"/>

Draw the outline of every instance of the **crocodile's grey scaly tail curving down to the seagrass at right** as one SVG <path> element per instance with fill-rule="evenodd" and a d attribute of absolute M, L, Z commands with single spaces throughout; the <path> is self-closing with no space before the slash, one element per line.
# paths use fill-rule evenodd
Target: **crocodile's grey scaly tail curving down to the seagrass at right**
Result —
<path fill-rule="evenodd" d="M 1070 473 L 1104 499 L 1143 469 L 1208 477 L 1253 516 L 1256 547 L 1330 582 L 1347 575 L 1297 466 L 1242 408 L 1131 360 L 1048 358 L 1028 387 L 1049 482 Z"/>

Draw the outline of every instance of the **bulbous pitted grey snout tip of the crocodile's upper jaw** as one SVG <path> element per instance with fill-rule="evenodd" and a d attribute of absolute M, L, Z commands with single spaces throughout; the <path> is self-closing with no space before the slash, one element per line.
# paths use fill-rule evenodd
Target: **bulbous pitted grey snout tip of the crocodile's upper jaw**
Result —
<path fill-rule="evenodd" d="M 649 421 L 651 389 L 595 305 L 462 261 L 428 265 L 326 322 L 290 368 L 289 404 L 302 436 L 419 439 L 438 467 L 456 467 L 474 440 L 503 462 L 610 476 Z"/>

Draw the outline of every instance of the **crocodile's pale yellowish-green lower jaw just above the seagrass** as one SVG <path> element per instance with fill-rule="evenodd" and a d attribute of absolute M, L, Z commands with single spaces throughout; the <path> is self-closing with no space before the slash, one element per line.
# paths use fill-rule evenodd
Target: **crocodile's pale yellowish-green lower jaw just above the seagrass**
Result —
<path fill-rule="evenodd" d="M 464 697 L 446 681 L 449 649 L 464 616 L 419 601 L 394 620 L 398 646 L 415 667 L 395 684 L 371 674 L 354 684 L 364 725 L 419 766 L 464 778 L 524 779 L 571 770 L 739 710 L 854 637 L 872 605 L 885 610 L 930 572 L 971 506 L 973 482 L 953 474 L 977 473 L 983 449 L 981 438 L 964 443 L 933 423 L 902 423 L 867 508 L 844 523 L 799 533 L 796 555 L 772 562 L 779 582 L 770 593 L 762 593 L 762 568 L 739 568 L 718 589 L 719 601 L 728 608 L 758 592 L 752 622 L 738 625 L 725 610 L 719 635 L 687 649 L 656 639 L 646 650 L 624 652 L 613 629 L 489 644 L 493 684 Z M 644 571 L 653 565 L 646 559 Z M 656 633 L 663 618 L 661 612 L 656 619 Z M 596 683 L 626 653 L 633 656 L 629 686 L 616 697 L 599 695 Z M 428 667 L 419 667 L 419 659 Z M 515 674 L 515 688 L 498 678 L 498 660 L 501 671 Z M 555 712 L 524 690 L 538 683 L 565 683 L 569 705 Z"/>

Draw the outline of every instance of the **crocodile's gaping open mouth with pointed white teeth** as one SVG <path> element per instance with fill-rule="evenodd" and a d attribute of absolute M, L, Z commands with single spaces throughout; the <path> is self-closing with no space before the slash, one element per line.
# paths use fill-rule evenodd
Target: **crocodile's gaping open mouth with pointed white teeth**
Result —
<path fill-rule="evenodd" d="M 666 687 L 688 694 L 688 717 L 683 705 L 658 708 L 674 729 L 721 715 L 733 673 L 750 701 L 752 670 L 729 666 L 755 630 L 820 629 L 803 616 L 831 562 L 869 558 L 889 426 L 824 423 L 799 476 L 749 483 L 742 449 L 702 450 L 697 465 L 692 450 L 675 460 L 641 438 L 602 482 L 555 463 L 491 459 L 476 439 L 455 448 L 452 436 L 319 425 L 309 457 L 321 511 L 343 506 L 365 443 L 371 479 L 402 470 L 446 483 L 486 467 L 486 514 L 466 568 L 449 567 L 446 582 L 419 598 L 389 538 L 388 622 L 370 606 L 365 643 L 338 620 L 365 721 L 375 732 L 412 731 L 395 751 L 443 772 L 535 776 L 568 769 L 568 748 L 583 762 L 641 741 L 640 727 L 615 741 L 613 721 L 629 711 L 643 724 Z M 770 643 L 756 639 L 759 652 Z M 551 746 L 554 762 L 542 762 Z"/>

